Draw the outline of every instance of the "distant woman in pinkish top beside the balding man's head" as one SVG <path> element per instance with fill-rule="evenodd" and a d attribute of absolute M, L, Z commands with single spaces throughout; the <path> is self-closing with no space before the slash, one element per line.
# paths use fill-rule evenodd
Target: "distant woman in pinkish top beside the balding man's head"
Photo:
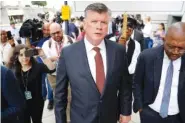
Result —
<path fill-rule="evenodd" d="M 164 23 L 160 23 L 157 31 L 154 33 L 155 40 L 153 47 L 163 45 L 164 37 L 165 37 L 165 26 Z"/>

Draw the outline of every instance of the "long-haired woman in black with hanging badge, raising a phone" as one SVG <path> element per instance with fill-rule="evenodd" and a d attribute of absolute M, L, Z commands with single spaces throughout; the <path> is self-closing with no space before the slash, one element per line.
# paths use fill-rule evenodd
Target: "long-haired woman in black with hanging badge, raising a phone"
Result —
<path fill-rule="evenodd" d="M 20 85 L 21 91 L 26 100 L 24 109 L 24 123 L 42 123 L 44 100 L 42 97 L 42 74 L 52 73 L 55 67 L 41 49 L 37 49 L 38 55 L 43 63 L 37 63 L 33 56 L 28 56 L 28 48 L 25 45 L 17 45 L 9 62 L 13 68 Z M 27 55 L 26 55 L 27 54 Z"/>

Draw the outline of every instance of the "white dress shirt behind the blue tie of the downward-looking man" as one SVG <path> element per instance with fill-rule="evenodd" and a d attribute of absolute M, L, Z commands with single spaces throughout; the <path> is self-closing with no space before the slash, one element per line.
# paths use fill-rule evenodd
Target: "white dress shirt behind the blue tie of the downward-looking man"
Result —
<path fill-rule="evenodd" d="M 153 110 L 156 112 L 160 112 L 162 98 L 163 98 L 163 91 L 165 86 L 165 80 L 166 80 L 166 73 L 168 66 L 170 64 L 170 59 L 164 52 L 164 58 L 163 58 L 163 66 L 162 66 L 162 74 L 161 74 L 161 80 L 160 80 L 160 86 L 158 90 L 157 97 L 153 104 L 149 105 Z M 173 61 L 173 78 L 172 78 L 172 86 L 171 86 L 171 95 L 170 95 L 170 103 L 168 108 L 168 115 L 176 115 L 179 113 L 179 106 L 178 106 L 178 85 L 179 85 L 179 73 L 180 73 L 180 67 L 181 67 L 181 58 L 178 58 L 177 60 Z"/>

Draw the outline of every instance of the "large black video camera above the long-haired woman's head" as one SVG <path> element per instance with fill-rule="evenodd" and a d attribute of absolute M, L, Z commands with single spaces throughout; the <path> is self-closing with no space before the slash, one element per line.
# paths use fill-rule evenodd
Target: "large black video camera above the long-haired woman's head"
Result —
<path fill-rule="evenodd" d="M 30 38 L 32 42 L 39 41 L 43 38 L 42 33 L 43 22 L 38 19 L 28 19 L 26 20 L 19 31 L 20 37 Z"/>

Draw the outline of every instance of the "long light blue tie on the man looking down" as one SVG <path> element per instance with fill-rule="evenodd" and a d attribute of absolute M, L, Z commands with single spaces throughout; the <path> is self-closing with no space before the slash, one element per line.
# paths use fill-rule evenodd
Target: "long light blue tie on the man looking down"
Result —
<path fill-rule="evenodd" d="M 162 103 L 161 103 L 161 109 L 159 112 L 162 118 L 166 118 L 168 116 L 168 107 L 170 103 L 172 78 L 173 78 L 173 62 L 170 61 L 167 74 L 166 74 L 166 81 L 165 81 L 165 87 L 164 87 L 163 98 L 162 98 Z"/>

